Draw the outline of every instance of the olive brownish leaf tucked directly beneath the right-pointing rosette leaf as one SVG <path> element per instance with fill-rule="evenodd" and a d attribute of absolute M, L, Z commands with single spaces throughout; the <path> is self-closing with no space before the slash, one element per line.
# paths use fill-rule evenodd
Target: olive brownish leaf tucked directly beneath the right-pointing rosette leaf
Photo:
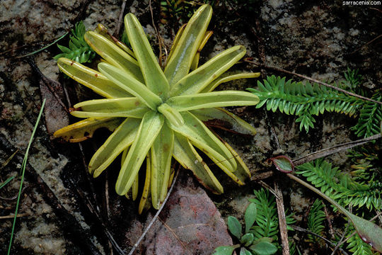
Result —
<path fill-rule="evenodd" d="M 216 120 L 217 123 L 221 123 L 221 128 L 233 130 L 243 135 L 256 135 L 256 130 L 252 125 L 223 108 L 204 108 L 192 110 L 190 113 L 203 122 Z"/>

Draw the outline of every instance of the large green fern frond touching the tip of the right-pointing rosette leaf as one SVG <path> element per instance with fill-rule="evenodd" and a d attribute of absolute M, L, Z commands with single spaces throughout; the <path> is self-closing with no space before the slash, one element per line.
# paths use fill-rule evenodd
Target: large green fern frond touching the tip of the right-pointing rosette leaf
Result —
<path fill-rule="evenodd" d="M 262 82 L 257 81 L 258 89 L 248 89 L 260 98 L 257 108 L 266 104 L 267 111 L 277 109 L 281 113 L 297 115 L 300 130 L 308 132 L 316 120 L 313 115 L 325 111 L 354 115 L 361 104 L 358 98 L 348 96 L 340 91 L 308 82 L 286 81 L 285 77 L 267 77 Z"/>

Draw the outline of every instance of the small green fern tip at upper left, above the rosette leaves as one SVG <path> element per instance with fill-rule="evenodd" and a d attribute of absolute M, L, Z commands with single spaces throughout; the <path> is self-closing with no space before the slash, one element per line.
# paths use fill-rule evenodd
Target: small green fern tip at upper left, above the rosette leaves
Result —
<path fill-rule="evenodd" d="M 73 35 L 70 36 L 69 47 L 57 44 L 57 47 L 59 47 L 62 53 L 54 56 L 54 60 L 58 60 L 60 57 L 66 57 L 69 60 L 75 60 L 79 63 L 91 62 L 93 58 L 96 57 L 96 52 L 91 49 L 83 38 L 83 35 L 86 33 L 83 22 L 80 21 L 76 23 L 71 33 Z"/>

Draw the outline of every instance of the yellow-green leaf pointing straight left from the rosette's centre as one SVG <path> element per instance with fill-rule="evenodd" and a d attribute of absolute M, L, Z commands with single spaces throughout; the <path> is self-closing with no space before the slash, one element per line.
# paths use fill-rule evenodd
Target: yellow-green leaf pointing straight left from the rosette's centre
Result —
<path fill-rule="evenodd" d="M 79 111 L 81 110 L 81 111 Z M 83 101 L 74 105 L 71 115 L 79 118 L 88 117 L 130 117 L 143 118 L 150 109 L 138 98 L 110 98 Z"/>

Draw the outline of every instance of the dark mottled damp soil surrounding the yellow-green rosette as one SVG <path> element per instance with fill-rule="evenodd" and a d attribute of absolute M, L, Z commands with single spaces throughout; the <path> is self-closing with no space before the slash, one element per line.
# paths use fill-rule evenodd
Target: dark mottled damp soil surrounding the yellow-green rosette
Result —
<path fill-rule="evenodd" d="M 62 95 L 61 100 L 67 107 L 85 98 L 94 98 L 91 92 L 59 73 L 52 59 L 59 53 L 55 45 L 30 57 L 21 56 L 59 38 L 77 21 L 83 21 L 90 30 L 103 23 L 114 31 L 122 2 L 0 1 L 0 164 L 18 151 L 16 157 L 1 167 L 0 182 L 15 176 L 21 169 L 23 153 L 42 103 L 41 88 L 45 86 L 42 74 L 59 82 L 61 92 L 58 94 Z M 137 16 L 157 49 L 154 21 L 166 48 L 170 49 L 176 31 L 187 21 L 190 11 L 180 13 L 178 18 L 164 17 L 159 1 L 152 1 L 151 5 L 154 18 L 151 18 L 149 1 L 146 0 L 127 1 L 125 13 L 132 12 Z M 382 44 L 380 39 L 373 41 L 382 33 L 381 20 L 381 6 L 345 6 L 342 1 L 221 0 L 214 6 L 209 26 L 214 35 L 202 50 L 201 62 L 233 45 L 244 45 L 247 49 L 245 57 L 254 62 L 323 81 L 343 79 L 343 72 L 350 67 L 359 69 L 363 75 L 364 89 L 381 88 Z M 68 40 L 66 36 L 59 43 L 66 45 Z M 284 76 L 245 62 L 234 69 L 261 71 L 262 78 L 272 74 Z M 256 79 L 248 79 L 224 84 L 221 89 L 244 90 L 256 84 Z M 62 94 L 63 87 L 66 96 Z M 232 132 L 216 132 L 236 149 L 253 176 L 270 171 L 266 159 L 274 155 L 286 154 L 293 159 L 357 138 L 349 131 L 356 120 L 339 113 L 318 116 L 315 128 L 306 133 L 299 130 L 294 116 L 253 106 L 229 110 L 253 125 L 257 135 L 241 137 Z M 121 248 L 129 251 L 134 243 L 125 236 L 127 229 L 132 227 L 132 222 L 145 222 L 155 210 L 137 216 L 137 203 L 115 194 L 113 183 L 117 178 L 118 160 L 109 167 L 108 174 L 98 179 L 88 176 L 86 164 L 110 132 L 98 130 L 93 139 L 81 142 L 81 145 L 63 144 L 51 139 L 52 130 L 47 129 L 46 123 L 54 121 L 46 117 L 42 118 L 30 149 L 27 169 L 30 173 L 24 183 L 13 254 L 111 254 L 111 244 L 101 221 L 107 222 Z M 73 117 L 68 120 L 70 123 L 76 121 Z M 59 121 L 62 118 L 57 119 Z M 328 160 L 335 166 L 349 165 L 345 152 Z M 261 183 L 248 181 L 245 186 L 238 187 L 224 174 L 219 174 L 214 166 L 212 170 L 224 185 L 225 193 L 216 196 L 207 191 L 207 196 L 225 222 L 228 215 L 242 219 L 248 198 L 253 198 L 253 189 L 260 188 Z M 185 177 L 180 179 L 187 180 Z M 309 203 L 316 198 L 276 173 L 263 181 L 270 186 L 274 181 L 280 183 L 285 205 L 295 212 L 297 219 L 303 217 Z M 1 216 L 13 214 L 19 183 L 13 181 L 1 188 Z M 88 205 L 95 208 L 89 210 Z M 98 212 L 98 217 L 92 210 Z M 0 254 L 6 254 L 11 225 L 11 218 L 0 218 Z M 141 251 L 150 254 L 148 250 Z M 195 254 L 202 252 L 195 251 Z"/>

